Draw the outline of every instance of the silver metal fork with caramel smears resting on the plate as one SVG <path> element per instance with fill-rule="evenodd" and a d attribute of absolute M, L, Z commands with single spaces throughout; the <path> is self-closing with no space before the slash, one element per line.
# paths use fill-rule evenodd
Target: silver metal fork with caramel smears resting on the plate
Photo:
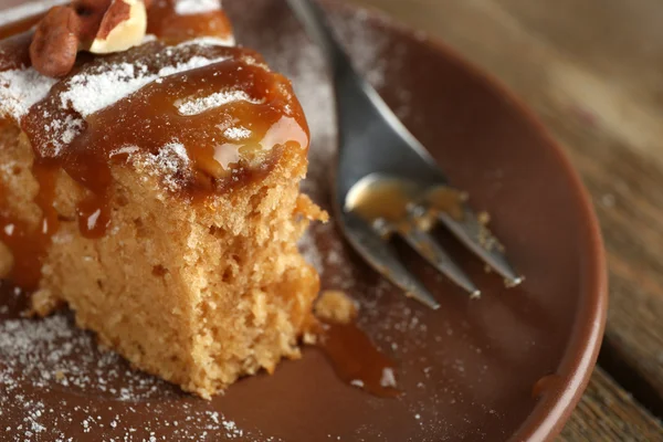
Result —
<path fill-rule="evenodd" d="M 433 309 L 440 304 L 401 264 L 387 241 L 391 234 L 401 236 L 441 273 L 472 296 L 478 296 L 481 292 L 470 277 L 434 240 L 430 229 L 419 222 L 422 214 L 429 213 L 431 201 L 425 196 L 430 189 L 452 189 L 444 173 L 372 86 L 355 71 L 322 8 L 312 0 L 287 1 L 323 50 L 332 71 L 339 137 L 334 208 L 344 234 L 373 269 L 408 296 Z M 391 192 L 385 194 L 385 189 Z M 373 201 L 378 211 L 362 213 L 360 201 L 380 193 L 386 204 Z M 403 219 L 396 220 L 387 214 L 387 206 L 403 196 L 408 201 Z M 477 215 L 463 201 L 459 208 L 460 214 L 445 210 L 435 212 L 435 221 L 502 275 L 507 286 L 518 285 L 523 277 L 508 263 L 502 248 L 495 246 L 496 241 L 486 234 Z"/>

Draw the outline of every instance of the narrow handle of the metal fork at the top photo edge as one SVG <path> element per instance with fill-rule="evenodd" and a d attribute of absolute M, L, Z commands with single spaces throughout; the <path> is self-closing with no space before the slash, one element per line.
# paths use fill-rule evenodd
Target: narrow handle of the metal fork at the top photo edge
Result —
<path fill-rule="evenodd" d="M 287 0 L 291 9 L 304 24 L 306 33 L 324 51 L 334 76 L 338 77 L 348 70 L 355 74 L 350 59 L 334 35 L 332 25 L 319 4 L 314 0 Z"/>

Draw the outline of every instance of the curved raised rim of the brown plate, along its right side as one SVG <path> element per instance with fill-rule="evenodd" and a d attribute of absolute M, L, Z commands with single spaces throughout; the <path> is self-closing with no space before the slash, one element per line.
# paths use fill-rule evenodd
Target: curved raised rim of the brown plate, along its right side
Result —
<path fill-rule="evenodd" d="M 554 160 L 559 162 L 560 171 L 566 175 L 566 180 L 576 194 L 577 202 L 579 202 L 578 213 L 586 220 L 581 230 L 586 231 L 588 235 L 586 250 L 588 251 L 587 255 L 590 257 L 589 262 L 585 264 L 586 269 L 583 269 L 583 274 L 588 276 L 587 281 L 582 282 L 581 293 L 585 296 L 576 308 L 571 335 L 557 368 L 557 372 L 561 371 L 570 375 L 562 378 L 562 382 L 556 386 L 556 391 L 551 394 L 552 399 L 539 401 L 508 439 L 514 442 L 552 441 L 561 433 L 589 385 L 603 340 L 608 316 L 608 262 L 601 228 L 589 191 L 566 154 L 562 144 L 555 139 L 550 129 L 525 99 L 519 97 L 494 74 L 465 59 L 460 51 L 441 38 L 410 28 L 377 7 L 354 4 L 345 0 L 322 1 L 326 8 L 333 11 L 349 14 L 361 11 L 362 18 L 370 24 L 389 29 L 414 44 L 428 46 L 465 72 L 474 81 L 482 83 L 487 90 L 506 99 L 513 109 L 545 141 L 546 148 L 554 156 Z"/>

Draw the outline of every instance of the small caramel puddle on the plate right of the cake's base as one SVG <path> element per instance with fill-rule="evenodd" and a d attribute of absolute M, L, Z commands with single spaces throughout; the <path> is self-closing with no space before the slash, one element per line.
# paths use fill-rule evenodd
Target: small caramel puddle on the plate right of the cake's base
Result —
<path fill-rule="evenodd" d="M 396 364 L 355 324 L 324 324 L 319 348 L 345 382 L 382 398 L 396 398 Z"/>

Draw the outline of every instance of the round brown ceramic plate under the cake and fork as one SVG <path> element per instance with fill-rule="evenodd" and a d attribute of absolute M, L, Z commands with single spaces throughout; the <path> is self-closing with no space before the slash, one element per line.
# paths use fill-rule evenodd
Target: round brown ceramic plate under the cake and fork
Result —
<path fill-rule="evenodd" d="M 239 41 L 294 80 L 314 137 L 305 190 L 328 207 L 335 130 L 315 48 L 283 1 L 225 7 Z M 329 10 L 358 65 L 452 182 L 492 214 L 526 283 L 504 288 L 441 232 L 484 297 L 470 301 L 401 248 L 442 304 L 431 312 L 381 281 L 333 224 L 316 227 L 305 254 L 325 288 L 360 299 L 359 324 L 398 362 L 404 394 L 351 388 L 308 348 L 211 402 L 99 352 L 69 314 L 20 318 L 21 296 L 6 286 L 0 440 L 541 441 L 559 432 L 588 381 L 606 315 L 602 245 L 578 177 L 528 110 L 451 51 L 372 12 Z"/>

